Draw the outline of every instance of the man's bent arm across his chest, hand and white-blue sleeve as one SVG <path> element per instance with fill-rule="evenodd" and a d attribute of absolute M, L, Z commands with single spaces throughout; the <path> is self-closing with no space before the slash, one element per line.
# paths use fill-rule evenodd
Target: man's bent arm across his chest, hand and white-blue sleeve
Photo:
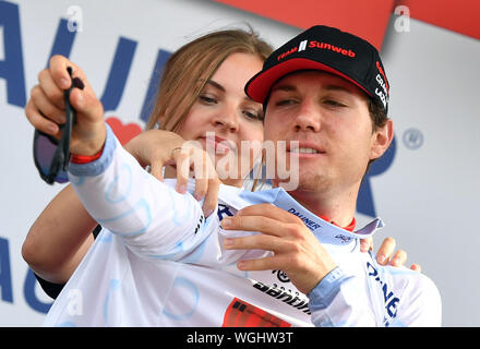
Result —
<path fill-rule="evenodd" d="M 312 323 L 317 326 L 376 326 L 363 285 L 338 267 L 315 236 L 296 216 L 269 204 L 243 208 L 224 218 L 229 230 L 262 233 L 226 239 L 226 248 L 262 249 L 273 256 L 240 261 L 241 270 L 281 269 L 297 289 L 309 296 Z"/>

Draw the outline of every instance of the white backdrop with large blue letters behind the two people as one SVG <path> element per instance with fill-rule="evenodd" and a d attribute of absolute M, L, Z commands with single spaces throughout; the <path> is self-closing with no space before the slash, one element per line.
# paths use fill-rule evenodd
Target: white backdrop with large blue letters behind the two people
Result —
<path fill-rule="evenodd" d="M 82 31 L 57 36 L 60 21 L 65 25 L 72 15 L 81 16 Z M 415 20 L 409 32 L 398 33 L 395 20 L 382 49 L 395 146 L 363 186 L 358 220 L 361 225 L 368 216 L 381 216 L 387 226 L 375 244 L 392 236 L 407 250 L 409 262 L 422 265 L 441 291 L 445 326 L 479 326 L 480 44 Z M 111 105 L 107 117 L 143 127 L 159 50 L 173 51 L 206 32 L 244 27 L 245 22 L 274 46 L 300 32 L 204 0 L 0 1 L 1 326 L 40 325 L 51 303 L 32 282 L 21 248 L 35 218 L 61 189 L 37 174 L 33 129 L 23 111 L 53 44 L 70 51 L 97 95 Z M 124 76 L 123 89 L 107 85 L 117 49 L 119 62 L 132 59 L 130 65 L 116 65 L 119 73 L 111 83 L 123 86 L 119 82 Z M 9 60 L 15 52 L 21 59 Z"/>

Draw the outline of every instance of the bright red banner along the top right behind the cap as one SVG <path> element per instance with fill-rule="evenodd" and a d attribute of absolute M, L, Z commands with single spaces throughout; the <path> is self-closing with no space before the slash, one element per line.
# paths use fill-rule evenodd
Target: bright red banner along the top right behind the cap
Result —
<path fill-rule="evenodd" d="M 477 39 L 480 38 L 478 23 L 480 2 L 475 0 L 216 1 L 304 29 L 319 23 L 335 26 L 363 37 L 379 50 L 382 48 L 392 14 L 411 16 Z"/>

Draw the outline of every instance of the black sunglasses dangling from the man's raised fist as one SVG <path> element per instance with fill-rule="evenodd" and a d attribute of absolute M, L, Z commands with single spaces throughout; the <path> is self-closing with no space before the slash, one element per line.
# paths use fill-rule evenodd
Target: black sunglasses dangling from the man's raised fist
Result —
<path fill-rule="evenodd" d="M 72 79 L 72 68 L 68 67 L 70 79 Z M 64 91 L 65 103 L 64 124 L 60 125 L 63 130 L 60 141 L 41 131 L 35 130 L 34 134 L 34 160 L 40 177 L 48 184 L 65 183 L 69 181 L 67 166 L 70 160 L 70 140 L 72 136 L 72 125 L 75 124 L 76 111 L 70 104 L 70 92 L 73 87 L 83 89 L 84 84 L 79 77 L 72 79 L 71 86 Z"/>

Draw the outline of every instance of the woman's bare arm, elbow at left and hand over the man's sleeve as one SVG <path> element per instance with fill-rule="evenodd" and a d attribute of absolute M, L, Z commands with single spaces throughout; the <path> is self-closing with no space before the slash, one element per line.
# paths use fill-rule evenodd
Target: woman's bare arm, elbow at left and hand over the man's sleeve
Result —
<path fill-rule="evenodd" d="M 151 130 L 131 140 L 125 149 L 142 167 L 149 165 L 152 174 L 163 180 L 161 168 L 165 164 L 181 167 L 183 161 L 189 163 L 189 159 L 204 154 L 200 149 L 184 154 L 183 151 L 189 151 L 185 148 L 172 155 L 171 149 L 183 142 L 178 134 Z M 212 166 L 208 169 L 214 171 Z M 212 178 L 208 178 L 208 173 L 203 174 L 196 178 L 194 195 L 197 200 L 205 198 L 203 210 L 207 217 L 216 207 L 219 181 L 216 173 L 212 173 Z M 179 183 L 187 184 L 188 173 L 182 177 L 179 171 L 177 176 Z M 29 229 L 22 248 L 23 257 L 43 279 L 64 284 L 92 245 L 94 238 L 91 232 L 97 225 L 69 184 L 48 204 Z"/>

